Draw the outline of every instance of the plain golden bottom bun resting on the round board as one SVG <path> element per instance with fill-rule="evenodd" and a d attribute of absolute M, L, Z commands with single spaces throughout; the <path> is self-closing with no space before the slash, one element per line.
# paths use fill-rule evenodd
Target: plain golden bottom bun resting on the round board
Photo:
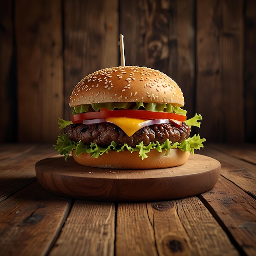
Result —
<path fill-rule="evenodd" d="M 178 148 L 171 148 L 169 154 L 167 151 L 159 153 L 157 150 L 151 150 L 147 153 L 148 158 L 143 160 L 139 157 L 139 152 L 134 151 L 108 151 L 98 158 L 92 157 L 88 153 L 82 153 L 78 157 L 73 150 L 73 157 L 79 164 L 98 168 L 109 169 L 157 169 L 180 166 L 189 158 L 189 152 L 184 152 Z"/>

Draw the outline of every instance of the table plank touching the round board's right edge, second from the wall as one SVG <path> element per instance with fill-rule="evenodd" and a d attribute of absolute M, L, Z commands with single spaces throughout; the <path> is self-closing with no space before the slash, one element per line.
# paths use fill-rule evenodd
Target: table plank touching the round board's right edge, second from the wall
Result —
<path fill-rule="evenodd" d="M 218 148 L 211 149 L 207 147 L 200 153 L 211 155 L 211 157 L 217 159 L 221 164 L 220 175 L 234 182 L 241 189 L 256 198 L 256 167 L 254 164 L 222 153 Z"/>

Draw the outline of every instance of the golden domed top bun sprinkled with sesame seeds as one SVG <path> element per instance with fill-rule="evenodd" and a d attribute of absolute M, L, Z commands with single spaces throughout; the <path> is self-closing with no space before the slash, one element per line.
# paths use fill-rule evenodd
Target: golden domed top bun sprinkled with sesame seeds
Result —
<path fill-rule="evenodd" d="M 70 96 L 70 107 L 108 102 L 169 103 L 184 106 L 180 87 L 149 67 L 110 67 L 85 76 Z"/>

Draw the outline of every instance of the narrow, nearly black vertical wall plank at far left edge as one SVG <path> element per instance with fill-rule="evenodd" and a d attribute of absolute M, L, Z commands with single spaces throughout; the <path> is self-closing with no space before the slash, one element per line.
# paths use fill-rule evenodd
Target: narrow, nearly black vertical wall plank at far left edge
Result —
<path fill-rule="evenodd" d="M 0 0 L 0 142 L 16 141 L 12 10 L 12 1 Z"/>

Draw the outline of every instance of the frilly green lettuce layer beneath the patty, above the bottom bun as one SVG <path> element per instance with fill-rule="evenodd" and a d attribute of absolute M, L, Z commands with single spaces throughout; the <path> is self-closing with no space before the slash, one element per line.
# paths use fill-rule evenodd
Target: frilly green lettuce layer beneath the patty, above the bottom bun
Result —
<path fill-rule="evenodd" d="M 202 142 L 206 141 L 206 139 L 201 139 L 199 135 L 194 135 L 193 137 L 189 137 L 188 139 L 185 139 L 181 143 L 175 142 L 172 144 L 172 142 L 167 139 L 164 143 L 159 144 L 159 142 L 150 142 L 148 146 L 145 146 L 143 144 L 143 141 L 141 141 L 138 145 L 135 147 L 130 147 L 127 144 L 124 144 L 123 146 L 117 146 L 117 144 L 112 141 L 110 146 L 108 147 L 100 147 L 95 143 L 90 144 L 90 146 L 84 145 L 81 141 L 74 142 L 71 141 L 67 134 L 63 133 L 58 136 L 58 139 L 56 141 L 56 145 L 54 145 L 54 149 L 58 150 L 60 155 L 64 155 L 65 160 L 67 161 L 67 157 L 70 155 L 70 152 L 73 149 L 76 149 L 76 155 L 79 156 L 82 153 L 88 153 L 92 157 L 98 158 L 100 155 L 103 155 L 104 153 L 108 154 L 109 150 L 117 150 L 117 152 L 128 150 L 130 153 L 133 151 L 138 151 L 139 156 L 143 160 L 144 158 L 147 158 L 147 153 L 150 152 L 150 150 L 157 150 L 158 152 L 162 152 L 162 150 L 166 150 L 166 154 L 169 153 L 169 150 L 171 148 L 180 148 L 184 152 L 190 152 L 194 155 L 195 149 L 200 149 L 200 147 L 204 147 Z"/>

